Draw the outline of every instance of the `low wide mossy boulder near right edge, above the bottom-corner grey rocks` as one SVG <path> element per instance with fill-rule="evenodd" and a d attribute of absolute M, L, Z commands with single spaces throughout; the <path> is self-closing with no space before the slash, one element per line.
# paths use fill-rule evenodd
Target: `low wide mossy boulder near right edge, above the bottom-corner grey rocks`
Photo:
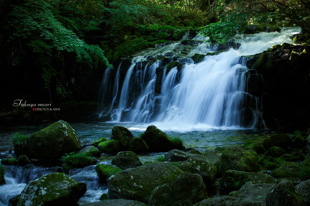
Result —
<path fill-rule="evenodd" d="M 298 162 L 283 162 L 270 175 L 275 178 L 299 178 L 299 173 L 304 168 L 306 166 Z"/>

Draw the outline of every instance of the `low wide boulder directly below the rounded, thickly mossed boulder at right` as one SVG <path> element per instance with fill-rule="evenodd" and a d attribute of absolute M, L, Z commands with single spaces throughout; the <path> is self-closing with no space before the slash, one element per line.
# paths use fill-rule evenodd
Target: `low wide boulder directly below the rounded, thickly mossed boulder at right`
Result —
<path fill-rule="evenodd" d="M 227 170 L 220 180 L 221 186 L 228 189 L 238 190 L 247 182 L 252 184 L 277 183 L 270 175 L 262 172 L 242 172 L 236 170 Z"/>

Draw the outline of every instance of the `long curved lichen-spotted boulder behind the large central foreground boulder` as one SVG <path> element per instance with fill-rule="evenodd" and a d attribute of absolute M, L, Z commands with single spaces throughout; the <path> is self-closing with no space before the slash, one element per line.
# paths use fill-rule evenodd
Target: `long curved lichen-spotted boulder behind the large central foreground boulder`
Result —
<path fill-rule="evenodd" d="M 169 162 L 188 161 L 196 167 L 196 173 L 202 176 L 203 182 L 210 187 L 215 180 L 217 174 L 216 167 L 201 154 L 191 154 L 178 149 L 173 149 L 165 154 L 166 160 Z"/>

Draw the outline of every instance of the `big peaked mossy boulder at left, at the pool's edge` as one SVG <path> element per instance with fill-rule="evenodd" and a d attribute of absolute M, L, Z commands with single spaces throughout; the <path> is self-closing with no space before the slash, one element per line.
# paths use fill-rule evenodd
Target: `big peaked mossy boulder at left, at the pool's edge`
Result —
<path fill-rule="evenodd" d="M 14 147 L 17 156 L 24 154 L 29 159 L 58 159 L 65 153 L 79 151 L 81 141 L 67 122 L 59 120 Z"/>

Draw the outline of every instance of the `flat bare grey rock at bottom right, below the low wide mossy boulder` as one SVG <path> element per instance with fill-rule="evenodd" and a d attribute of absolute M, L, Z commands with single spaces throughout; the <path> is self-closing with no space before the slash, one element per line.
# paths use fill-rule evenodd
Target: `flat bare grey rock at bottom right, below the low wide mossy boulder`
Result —
<path fill-rule="evenodd" d="M 265 205 L 265 199 L 270 189 L 276 186 L 277 183 L 260 183 L 260 184 L 245 184 L 240 190 L 236 191 L 232 196 L 239 197 L 243 200 L 248 200 L 255 205 Z"/>

